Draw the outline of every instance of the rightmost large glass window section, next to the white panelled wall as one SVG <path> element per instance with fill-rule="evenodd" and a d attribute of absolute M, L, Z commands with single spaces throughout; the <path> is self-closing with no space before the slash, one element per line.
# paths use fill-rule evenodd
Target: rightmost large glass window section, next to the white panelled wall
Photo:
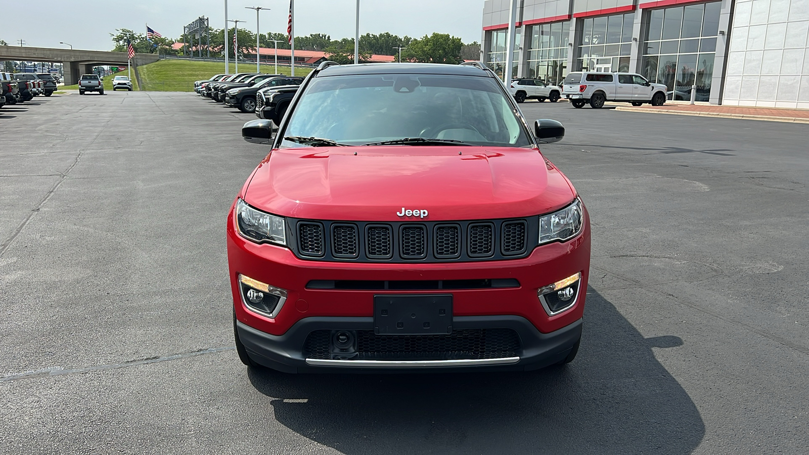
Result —
<path fill-rule="evenodd" d="M 666 84 L 669 100 L 690 100 L 695 85 L 696 100 L 709 100 L 719 10 L 710 2 L 649 11 L 642 74 Z"/>

